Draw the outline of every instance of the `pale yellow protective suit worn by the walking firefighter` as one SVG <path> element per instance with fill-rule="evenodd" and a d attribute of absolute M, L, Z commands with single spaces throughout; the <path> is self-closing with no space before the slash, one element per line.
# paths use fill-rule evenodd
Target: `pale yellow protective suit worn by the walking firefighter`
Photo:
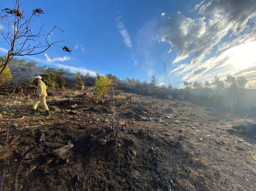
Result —
<path fill-rule="evenodd" d="M 49 110 L 48 109 L 48 106 L 46 105 L 46 96 L 47 96 L 47 93 L 46 93 L 46 86 L 45 84 L 40 81 L 37 85 L 37 96 L 40 95 L 40 98 L 36 98 L 33 102 L 33 108 L 32 109 L 37 109 L 37 105 L 39 103 L 41 103 L 41 105 L 44 107 L 45 110 Z"/>

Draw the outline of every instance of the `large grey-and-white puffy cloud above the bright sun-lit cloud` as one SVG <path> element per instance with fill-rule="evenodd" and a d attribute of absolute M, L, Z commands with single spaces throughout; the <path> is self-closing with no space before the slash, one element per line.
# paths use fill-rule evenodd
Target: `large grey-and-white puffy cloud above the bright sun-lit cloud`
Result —
<path fill-rule="evenodd" d="M 191 63 L 201 62 L 228 31 L 239 34 L 248 20 L 256 16 L 255 0 L 213 0 L 199 7 L 199 14 L 207 17 L 191 19 L 177 13 L 160 28 L 160 41 L 169 43 L 170 51 L 177 52 L 173 63 L 189 56 L 192 56 Z"/>

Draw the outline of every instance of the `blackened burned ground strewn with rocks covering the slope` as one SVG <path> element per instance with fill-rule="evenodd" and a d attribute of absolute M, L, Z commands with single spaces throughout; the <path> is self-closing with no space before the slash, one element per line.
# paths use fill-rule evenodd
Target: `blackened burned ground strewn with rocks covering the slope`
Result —
<path fill-rule="evenodd" d="M 52 115 L 42 116 L 40 107 L 30 116 L 33 91 L 19 89 L 11 98 L 25 118 L 12 123 L 6 145 L 0 126 L 2 190 L 11 188 L 21 155 L 42 134 L 45 141 L 19 170 L 21 190 L 255 190 L 256 139 L 232 128 L 255 118 L 119 90 L 95 104 L 90 88 L 53 91 Z M 2 92 L 1 99 L 12 93 Z M 68 144 L 74 146 L 53 155 Z"/>

